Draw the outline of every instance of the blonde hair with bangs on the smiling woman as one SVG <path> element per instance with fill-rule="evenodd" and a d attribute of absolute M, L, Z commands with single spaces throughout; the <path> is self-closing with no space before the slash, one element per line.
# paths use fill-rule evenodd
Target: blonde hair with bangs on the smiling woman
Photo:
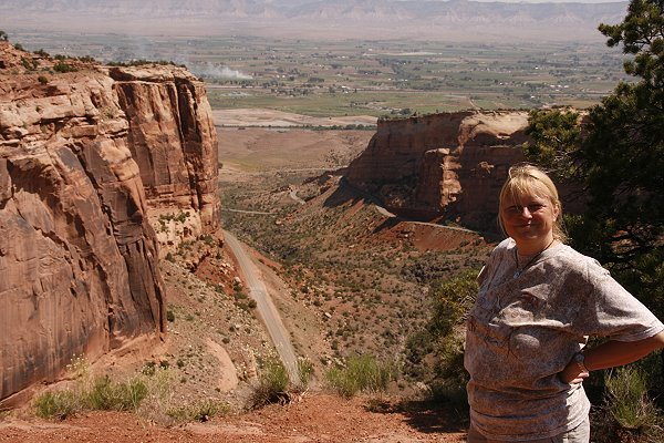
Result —
<path fill-rule="evenodd" d="M 553 238 L 559 241 L 566 241 L 568 237 L 562 224 L 562 204 L 558 196 L 558 189 L 547 173 L 527 163 L 510 167 L 507 181 L 502 185 L 502 189 L 500 189 L 498 226 L 500 226 L 502 233 L 506 234 L 505 225 L 502 224 L 502 205 L 505 200 L 507 197 L 510 197 L 513 202 L 519 202 L 526 195 L 537 195 L 548 198 L 558 208 L 558 217 L 556 217 L 556 222 L 553 223 Z"/>

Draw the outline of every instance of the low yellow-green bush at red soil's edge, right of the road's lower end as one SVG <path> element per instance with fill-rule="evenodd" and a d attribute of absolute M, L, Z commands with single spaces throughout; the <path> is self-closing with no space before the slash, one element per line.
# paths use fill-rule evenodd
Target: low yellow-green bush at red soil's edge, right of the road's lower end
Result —
<path fill-rule="evenodd" d="M 325 378 L 336 393 L 351 398 L 359 392 L 386 391 L 387 383 L 396 379 L 396 368 L 371 354 L 354 354 L 349 357 L 345 367 L 330 369 Z"/>

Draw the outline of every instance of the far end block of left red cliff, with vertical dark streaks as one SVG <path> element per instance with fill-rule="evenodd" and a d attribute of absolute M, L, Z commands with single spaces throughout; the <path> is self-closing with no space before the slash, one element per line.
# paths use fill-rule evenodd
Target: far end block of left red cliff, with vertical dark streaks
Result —
<path fill-rule="evenodd" d="M 113 68 L 127 145 L 138 164 L 165 256 L 184 240 L 219 228 L 218 148 L 201 82 L 174 66 Z"/>

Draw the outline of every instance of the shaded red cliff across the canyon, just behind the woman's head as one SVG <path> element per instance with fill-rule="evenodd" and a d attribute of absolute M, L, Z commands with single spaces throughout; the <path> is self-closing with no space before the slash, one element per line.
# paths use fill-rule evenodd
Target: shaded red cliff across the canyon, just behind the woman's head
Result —
<path fill-rule="evenodd" d="M 346 179 L 393 213 L 496 230 L 498 194 L 509 166 L 525 159 L 527 123 L 516 111 L 382 120 Z"/>

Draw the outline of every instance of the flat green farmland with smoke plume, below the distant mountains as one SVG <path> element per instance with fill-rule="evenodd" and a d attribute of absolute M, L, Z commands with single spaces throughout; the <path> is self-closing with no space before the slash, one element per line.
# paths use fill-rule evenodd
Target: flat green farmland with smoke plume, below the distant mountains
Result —
<path fill-rule="evenodd" d="M 102 62 L 168 60 L 208 83 L 214 109 L 312 116 L 406 115 L 471 107 L 588 107 L 621 80 L 601 43 L 470 44 L 260 38 L 10 35 L 27 49 Z"/>

